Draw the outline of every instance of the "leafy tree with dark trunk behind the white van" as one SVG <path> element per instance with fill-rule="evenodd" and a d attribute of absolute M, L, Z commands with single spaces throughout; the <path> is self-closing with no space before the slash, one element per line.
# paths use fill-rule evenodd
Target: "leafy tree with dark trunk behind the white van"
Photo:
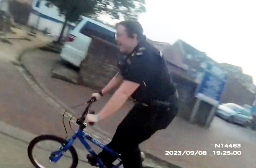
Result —
<path fill-rule="evenodd" d="M 114 19 L 123 16 L 125 20 L 137 20 L 138 14 L 145 12 L 145 0 L 47 0 L 65 15 L 65 22 L 57 40 L 60 43 L 68 22 L 75 22 L 80 15 L 97 19 L 100 14 L 108 14 Z M 49 6 L 49 4 L 46 4 Z"/>

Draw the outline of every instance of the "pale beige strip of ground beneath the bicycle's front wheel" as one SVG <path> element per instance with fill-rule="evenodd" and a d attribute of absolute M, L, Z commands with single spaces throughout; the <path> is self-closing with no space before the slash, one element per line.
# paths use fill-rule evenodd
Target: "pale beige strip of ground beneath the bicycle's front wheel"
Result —
<path fill-rule="evenodd" d="M 26 132 L 24 130 L 21 130 L 19 128 L 13 127 L 12 125 L 9 125 L 5 122 L 0 122 L 1 125 L 1 131 L 0 131 L 0 167 L 27 167 L 32 168 L 34 167 L 27 155 L 27 148 L 29 142 L 35 138 L 37 135 Z M 43 159 L 48 159 L 49 157 L 49 151 L 47 151 L 47 146 L 44 146 L 42 149 L 36 149 L 39 150 L 40 156 Z M 90 164 L 88 164 L 87 161 L 85 161 L 84 157 L 86 156 L 87 152 L 85 150 L 77 149 L 77 153 L 80 157 L 83 157 L 83 160 L 78 161 L 78 168 L 92 168 Z M 63 157 L 64 158 L 64 157 Z M 42 160 L 40 160 L 42 161 Z M 48 162 L 48 160 L 46 160 Z M 58 163 L 56 165 L 50 165 L 54 167 L 67 167 L 65 165 L 70 163 L 69 158 L 61 159 L 62 163 Z M 43 162 L 45 163 L 45 162 Z M 49 164 L 49 163 L 48 163 Z"/>

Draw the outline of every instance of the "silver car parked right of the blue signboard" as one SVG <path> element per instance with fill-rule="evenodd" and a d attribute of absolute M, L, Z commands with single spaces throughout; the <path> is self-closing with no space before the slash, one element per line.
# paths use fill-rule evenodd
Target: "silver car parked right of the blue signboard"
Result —
<path fill-rule="evenodd" d="M 217 116 L 230 123 L 238 123 L 247 127 L 252 120 L 252 113 L 234 103 L 221 104 L 217 109 Z"/>

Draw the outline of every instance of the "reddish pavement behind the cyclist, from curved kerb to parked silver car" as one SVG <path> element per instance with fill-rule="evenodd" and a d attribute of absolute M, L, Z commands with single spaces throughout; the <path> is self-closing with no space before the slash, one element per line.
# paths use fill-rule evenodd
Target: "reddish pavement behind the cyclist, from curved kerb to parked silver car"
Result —
<path fill-rule="evenodd" d="M 78 116 L 86 107 L 83 103 L 96 90 L 74 85 L 72 83 L 51 77 L 51 71 L 59 63 L 60 56 L 41 50 L 25 53 L 22 64 L 32 74 L 41 88 L 54 95 L 57 102 L 69 107 L 72 114 Z M 95 102 L 92 109 L 99 111 L 109 100 L 111 95 L 104 96 Z M 104 137 L 101 141 L 108 142 L 123 117 L 133 106 L 127 102 L 112 117 L 97 123 L 92 129 L 97 130 Z M 184 168 L 216 168 L 216 167 L 255 167 L 256 132 L 229 124 L 219 118 L 214 118 L 209 129 L 187 123 L 181 118 L 175 118 L 166 130 L 158 131 L 150 139 L 140 145 L 141 150 L 156 158 Z M 241 143 L 241 149 L 215 148 L 216 143 Z M 207 155 L 165 155 L 166 151 L 207 151 Z M 213 151 L 241 150 L 240 156 L 217 156 Z M 227 164 L 228 163 L 228 164 Z"/>

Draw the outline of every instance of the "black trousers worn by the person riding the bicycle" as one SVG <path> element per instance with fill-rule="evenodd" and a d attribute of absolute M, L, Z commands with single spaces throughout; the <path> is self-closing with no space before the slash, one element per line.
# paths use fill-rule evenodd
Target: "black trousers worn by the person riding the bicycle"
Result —
<path fill-rule="evenodd" d="M 107 146 L 121 154 L 124 168 L 141 168 L 140 143 L 151 137 L 157 130 L 165 129 L 176 115 L 177 108 L 145 107 L 135 104 L 119 124 L 112 141 Z M 160 144 L 159 144 L 160 145 Z M 99 158 L 109 168 L 117 159 L 104 149 Z"/>

